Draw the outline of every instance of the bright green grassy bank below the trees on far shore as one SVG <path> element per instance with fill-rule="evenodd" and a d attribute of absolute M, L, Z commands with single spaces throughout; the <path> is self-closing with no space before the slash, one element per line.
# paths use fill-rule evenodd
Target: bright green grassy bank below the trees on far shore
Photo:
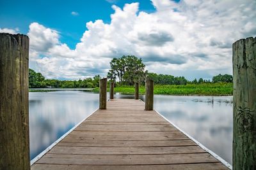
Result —
<path fill-rule="evenodd" d="M 155 85 L 154 94 L 184 96 L 232 96 L 232 83 L 202 83 L 188 85 Z M 109 89 L 108 89 L 109 90 Z M 93 90 L 99 92 L 99 88 Z M 134 87 L 115 87 L 115 92 L 134 94 Z M 145 94 L 145 87 L 140 87 L 140 94 Z"/>

